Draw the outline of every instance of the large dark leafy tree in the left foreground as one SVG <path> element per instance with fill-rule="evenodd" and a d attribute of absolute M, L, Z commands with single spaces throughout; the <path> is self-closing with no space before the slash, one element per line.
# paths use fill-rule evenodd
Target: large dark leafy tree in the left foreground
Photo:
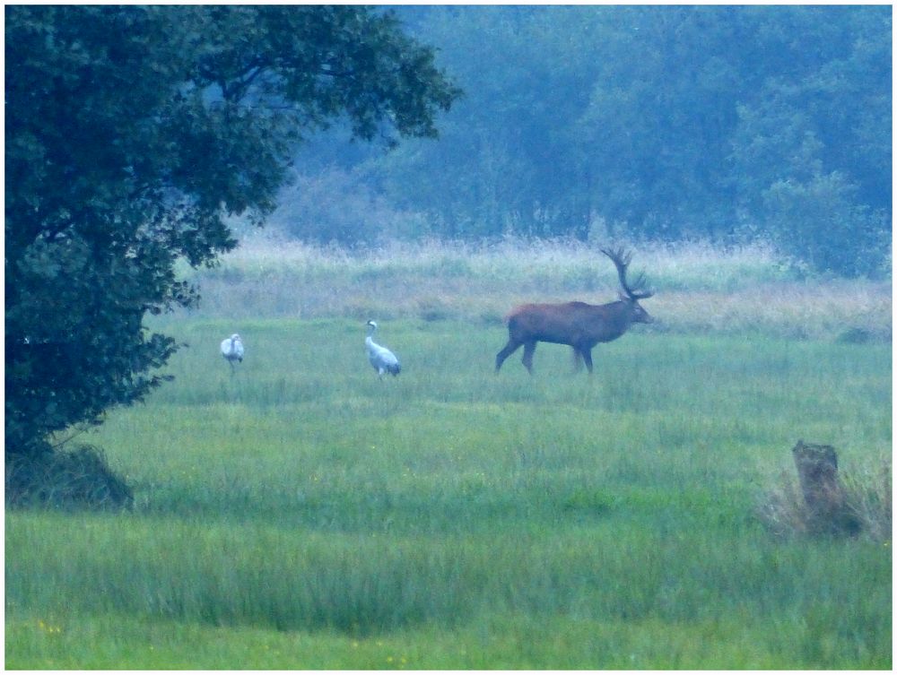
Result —
<path fill-rule="evenodd" d="M 435 136 L 459 95 L 367 7 L 9 6 L 5 39 L 7 458 L 160 383 L 174 263 L 262 221 L 303 136 Z"/>

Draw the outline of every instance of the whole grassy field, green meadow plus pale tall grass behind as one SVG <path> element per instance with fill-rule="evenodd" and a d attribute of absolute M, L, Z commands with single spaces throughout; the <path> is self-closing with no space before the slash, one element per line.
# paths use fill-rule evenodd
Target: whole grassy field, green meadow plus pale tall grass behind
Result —
<path fill-rule="evenodd" d="M 515 302 L 614 299 L 589 247 L 237 251 L 154 319 L 176 379 L 78 437 L 134 509 L 7 512 L 6 667 L 890 669 L 890 538 L 758 517 L 798 438 L 888 462 L 890 282 L 775 260 L 637 251 L 658 324 L 589 378 L 492 373 Z"/>

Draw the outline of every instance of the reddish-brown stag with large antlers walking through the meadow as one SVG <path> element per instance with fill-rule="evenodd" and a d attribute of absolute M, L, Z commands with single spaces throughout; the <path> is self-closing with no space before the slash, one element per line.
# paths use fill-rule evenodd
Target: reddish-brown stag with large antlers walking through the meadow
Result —
<path fill-rule="evenodd" d="M 631 254 L 601 249 L 614 261 L 623 292 L 616 302 L 606 305 L 588 305 L 585 302 L 564 302 L 559 305 L 520 305 L 514 307 L 505 321 L 508 323 L 508 344 L 495 356 L 495 373 L 514 351 L 523 345 L 523 365 L 533 374 L 533 353 L 536 342 L 569 344 L 579 362 L 586 363 L 592 372 L 592 348 L 598 342 L 611 342 L 629 330 L 632 324 L 650 324 L 654 319 L 639 304 L 650 298 L 653 292 L 645 290 L 645 275 L 630 285 L 626 281 L 626 268 Z"/>

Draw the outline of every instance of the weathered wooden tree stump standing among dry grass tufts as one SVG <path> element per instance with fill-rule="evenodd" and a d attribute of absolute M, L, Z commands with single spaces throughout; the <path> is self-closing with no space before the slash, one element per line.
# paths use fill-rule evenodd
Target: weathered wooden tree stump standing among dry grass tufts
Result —
<path fill-rule="evenodd" d="M 851 513 L 838 480 L 838 455 L 832 446 L 797 441 L 791 450 L 806 503 L 808 530 L 814 533 L 855 534 L 859 521 Z"/>

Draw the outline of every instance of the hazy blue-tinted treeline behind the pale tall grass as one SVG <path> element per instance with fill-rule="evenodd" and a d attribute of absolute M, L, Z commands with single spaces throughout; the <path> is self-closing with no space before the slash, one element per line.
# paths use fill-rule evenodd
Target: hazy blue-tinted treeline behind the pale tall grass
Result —
<path fill-rule="evenodd" d="M 762 240 L 890 269 L 886 6 L 399 7 L 465 98 L 441 140 L 309 143 L 273 226 L 384 238 Z"/>

